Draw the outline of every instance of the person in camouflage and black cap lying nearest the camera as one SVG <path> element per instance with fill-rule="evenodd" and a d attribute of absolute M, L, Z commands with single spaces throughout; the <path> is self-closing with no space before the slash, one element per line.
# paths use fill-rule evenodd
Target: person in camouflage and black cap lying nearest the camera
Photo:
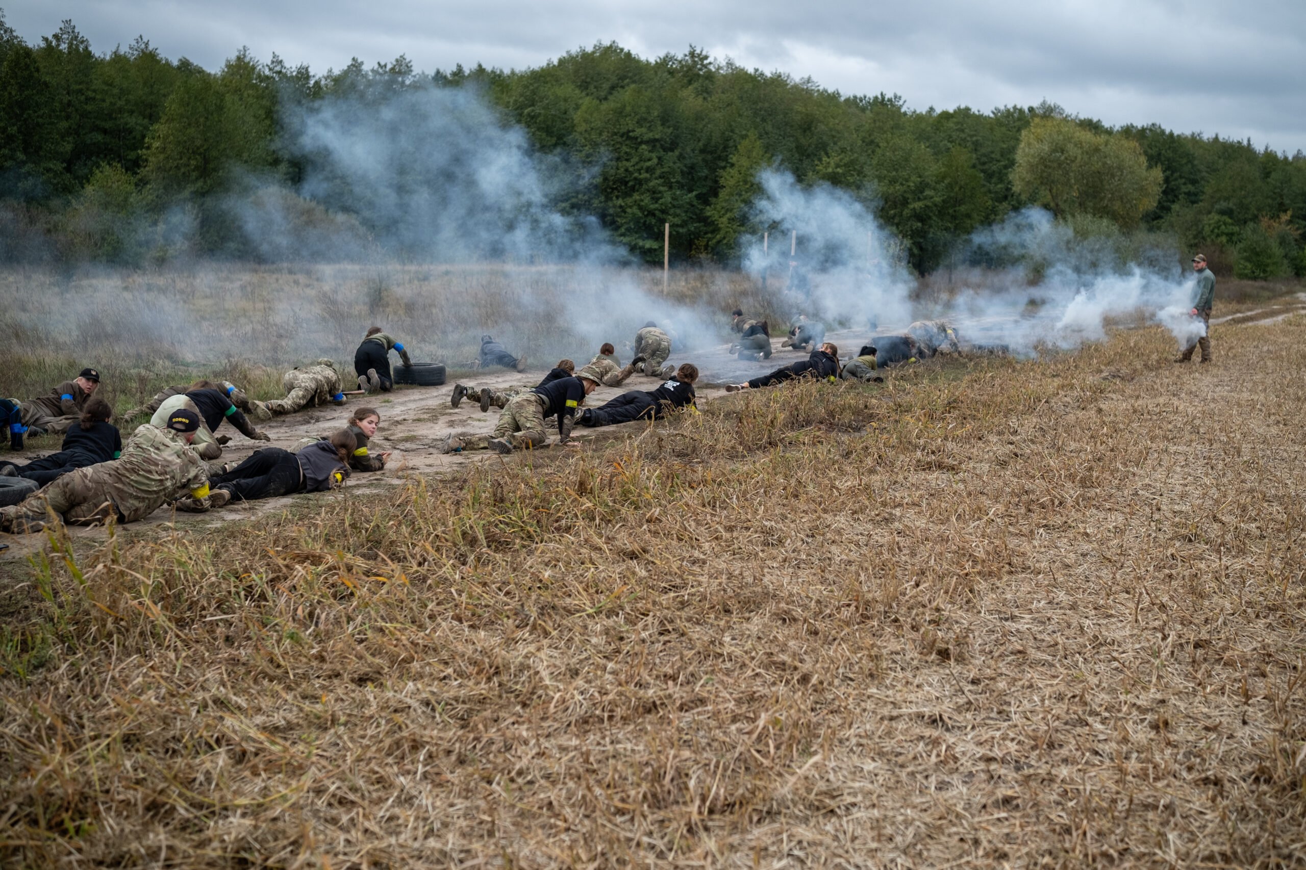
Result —
<path fill-rule="evenodd" d="M 71 526 L 91 526 L 111 518 L 144 519 L 187 493 L 193 510 L 226 503 L 225 496 L 210 500 L 209 471 L 189 446 L 201 424 L 189 408 L 178 408 L 162 428 L 146 423 L 132 433 L 119 459 L 71 471 L 21 505 L 0 509 L 0 532 L 39 532 L 47 509 Z"/>

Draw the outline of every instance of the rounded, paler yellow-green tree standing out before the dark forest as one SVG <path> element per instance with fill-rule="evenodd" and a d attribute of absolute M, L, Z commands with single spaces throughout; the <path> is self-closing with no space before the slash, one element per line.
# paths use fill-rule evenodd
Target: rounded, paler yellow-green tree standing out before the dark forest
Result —
<path fill-rule="evenodd" d="M 1091 214 L 1138 226 L 1161 196 L 1161 170 L 1138 142 L 1084 129 L 1064 117 L 1036 117 L 1020 137 L 1012 187 L 1057 217 Z"/>

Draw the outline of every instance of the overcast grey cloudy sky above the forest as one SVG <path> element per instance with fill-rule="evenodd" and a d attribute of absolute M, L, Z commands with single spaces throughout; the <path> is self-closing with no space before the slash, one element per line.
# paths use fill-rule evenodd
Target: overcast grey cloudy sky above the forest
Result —
<path fill-rule="evenodd" d="M 107 52 L 144 35 L 221 67 L 242 46 L 315 73 L 407 55 L 421 70 L 534 67 L 615 40 L 690 44 L 912 108 L 1043 99 L 1107 124 L 1306 150 L 1306 0 L 0 0 L 30 43 L 72 18 Z"/>

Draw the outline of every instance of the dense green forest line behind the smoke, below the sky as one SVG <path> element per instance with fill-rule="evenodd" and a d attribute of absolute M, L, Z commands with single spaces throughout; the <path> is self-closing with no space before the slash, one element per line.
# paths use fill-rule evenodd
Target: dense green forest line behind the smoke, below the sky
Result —
<path fill-rule="evenodd" d="M 209 202 L 249 177 L 296 190 L 306 155 L 289 108 L 470 87 L 533 146 L 564 159 L 556 207 L 588 214 L 636 256 L 737 263 L 769 227 L 748 207 L 784 167 L 872 206 L 930 271 L 978 227 L 1028 205 L 1077 233 L 1161 233 L 1243 278 L 1306 274 L 1306 155 L 1151 124 L 1110 128 L 1055 104 L 908 108 L 691 47 L 646 60 L 615 43 L 537 68 L 414 70 L 404 56 L 313 74 L 242 50 L 221 69 L 163 57 L 144 38 L 95 53 L 71 21 L 29 44 L 0 13 L 0 257 L 132 261 L 175 250 L 179 209 L 197 253 L 249 256 Z M 144 243 L 141 241 L 144 239 Z"/>

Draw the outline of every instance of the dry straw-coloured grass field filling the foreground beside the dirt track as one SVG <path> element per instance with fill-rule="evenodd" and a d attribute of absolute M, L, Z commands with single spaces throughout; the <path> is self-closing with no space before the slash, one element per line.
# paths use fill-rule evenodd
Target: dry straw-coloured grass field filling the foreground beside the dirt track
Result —
<path fill-rule="evenodd" d="M 1303 327 L 52 533 L 0 569 L 0 863 L 1299 865 Z"/>

